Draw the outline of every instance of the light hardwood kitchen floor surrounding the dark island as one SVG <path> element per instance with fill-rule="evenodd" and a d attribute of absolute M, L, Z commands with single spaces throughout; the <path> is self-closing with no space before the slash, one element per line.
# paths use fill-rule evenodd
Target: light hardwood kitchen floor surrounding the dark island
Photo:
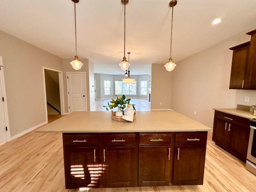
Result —
<path fill-rule="evenodd" d="M 209 134 L 209 138 L 211 135 Z M 78 192 L 65 189 L 62 134 L 34 131 L 0 146 L 0 192 Z M 204 184 L 90 189 L 89 192 L 255 192 L 244 163 L 207 141 Z"/>

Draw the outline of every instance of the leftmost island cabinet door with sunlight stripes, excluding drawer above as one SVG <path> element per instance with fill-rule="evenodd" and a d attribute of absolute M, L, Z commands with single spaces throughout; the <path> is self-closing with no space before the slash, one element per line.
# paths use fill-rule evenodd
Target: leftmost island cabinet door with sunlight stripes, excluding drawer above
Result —
<path fill-rule="evenodd" d="M 98 148 L 64 148 L 66 189 L 98 187 Z"/>

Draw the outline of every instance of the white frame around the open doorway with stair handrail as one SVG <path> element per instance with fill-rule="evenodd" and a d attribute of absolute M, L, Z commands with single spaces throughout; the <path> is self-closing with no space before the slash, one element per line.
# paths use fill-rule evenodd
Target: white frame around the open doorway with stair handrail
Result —
<path fill-rule="evenodd" d="M 64 88 L 63 88 L 63 73 L 60 70 L 43 67 L 43 79 L 44 79 L 44 103 L 45 103 L 45 115 L 46 122 L 48 123 L 48 113 L 47 113 L 47 100 L 46 100 L 46 85 L 45 85 L 45 73 L 44 70 L 56 71 L 59 73 L 59 89 L 60 89 L 60 114 L 65 114 L 65 104 L 64 104 Z"/>

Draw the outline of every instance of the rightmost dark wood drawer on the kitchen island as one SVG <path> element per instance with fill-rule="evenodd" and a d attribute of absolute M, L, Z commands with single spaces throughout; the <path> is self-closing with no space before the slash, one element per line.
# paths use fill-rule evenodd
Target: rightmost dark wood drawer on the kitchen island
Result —
<path fill-rule="evenodd" d="M 205 145 L 206 141 L 207 132 L 177 133 L 175 136 L 175 145 Z"/>

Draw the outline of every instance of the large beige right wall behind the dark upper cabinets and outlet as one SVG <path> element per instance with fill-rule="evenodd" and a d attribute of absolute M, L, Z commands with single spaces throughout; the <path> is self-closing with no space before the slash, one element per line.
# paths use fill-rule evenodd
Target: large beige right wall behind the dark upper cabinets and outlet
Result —
<path fill-rule="evenodd" d="M 229 89 L 232 50 L 228 48 L 249 41 L 250 36 L 246 32 L 176 63 L 173 71 L 172 110 L 212 128 L 212 108 L 236 108 L 236 104 L 256 103 L 255 90 Z M 244 102 L 245 96 L 250 96 L 250 102 Z"/>

